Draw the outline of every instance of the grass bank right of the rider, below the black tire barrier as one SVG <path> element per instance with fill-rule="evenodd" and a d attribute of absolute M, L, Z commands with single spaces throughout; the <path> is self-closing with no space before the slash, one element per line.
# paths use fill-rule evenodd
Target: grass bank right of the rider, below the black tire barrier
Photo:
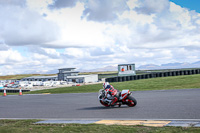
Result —
<path fill-rule="evenodd" d="M 130 90 L 169 90 L 169 89 L 190 89 L 200 88 L 200 75 L 187 75 L 175 77 L 162 77 L 128 81 L 120 84 L 116 82 L 113 85 L 120 89 Z"/>

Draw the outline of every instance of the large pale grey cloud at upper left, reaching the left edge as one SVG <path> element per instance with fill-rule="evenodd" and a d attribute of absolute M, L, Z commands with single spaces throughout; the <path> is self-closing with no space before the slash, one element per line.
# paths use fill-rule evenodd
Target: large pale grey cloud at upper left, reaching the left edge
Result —
<path fill-rule="evenodd" d="M 42 44 L 57 38 L 58 27 L 37 12 L 16 4 L 0 5 L 0 38 L 7 45 Z"/>

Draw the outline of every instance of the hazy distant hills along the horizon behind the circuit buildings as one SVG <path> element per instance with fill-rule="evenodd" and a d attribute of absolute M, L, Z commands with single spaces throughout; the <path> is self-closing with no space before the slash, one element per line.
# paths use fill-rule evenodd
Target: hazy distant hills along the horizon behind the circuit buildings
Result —
<path fill-rule="evenodd" d="M 167 64 L 161 64 L 161 65 L 146 64 L 146 65 L 141 65 L 139 67 L 137 67 L 137 64 L 136 64 L 136 70 L 162 70 L 162 69 L 183 69 L 183 68 L 200 68 L 200 61 L 193 62 L 193 63 L 175 62 L 175 63 L 167 63 Z M 99 74 L 99 73 L 102 74 L 102 73 L 116 73 L 118 71 L 117 69 L 118 69 L 117 65 L 111 65 L 111 66 L 106 66 L 106 67 L 91 69 L 91 70 L 77 69 L 77 71 L 79 71 L 80 73 L 91 72 L 90 74 Z M 58 69 L 54 69 L 54 70 L 50 70 L 46 72 L 33 71 L 32 73 L 38 73 L 38 74 L 17 74 L 17 75 L 0 76 L 0 80 L 22 79 L 24 77 L 30 77 L 30 76 L 53 76 L 53 75 L 57 75 Z"/>

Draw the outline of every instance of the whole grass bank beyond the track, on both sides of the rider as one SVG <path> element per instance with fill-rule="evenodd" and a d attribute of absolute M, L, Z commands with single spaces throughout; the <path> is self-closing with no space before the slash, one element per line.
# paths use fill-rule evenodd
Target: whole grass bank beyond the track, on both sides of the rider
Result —
<path fill-rule="evenodd" d="M 116 89 L 119 90 L 129 89 L 131 91 L 200 88 L 200 74 L 151 78 L 151 79 L 133 80 L 126 82 L 113 82 L 110 84 L 113 85 Z M 39 90 L 39 91 L 28 92 L 28 94 L 89 93 L 89 92 L 98 92 L 99 89 L 102 89 L 102 84 Z"/>

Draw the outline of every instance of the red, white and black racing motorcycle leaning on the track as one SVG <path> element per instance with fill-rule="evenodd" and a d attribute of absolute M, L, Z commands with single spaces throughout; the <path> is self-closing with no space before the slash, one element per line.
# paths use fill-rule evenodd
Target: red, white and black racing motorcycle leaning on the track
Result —
<path fill-rule="evenodd" d="M 121 107 L 121 105 L 128 105 L 129 107 L 134 107 L 137 104 L 137 100 L 131 96 L 132 92 L 129 90 L 122 90 L 122 92 L 119 92 L 119 100 L 112 106 L 118 105 Z M 99 90 L 99 96 L 98 96 L 99 102 L 106 106 L 110 107 L 110 103 L 112 99 L 105 98 L 105 90 L 100 89 Z"/>

